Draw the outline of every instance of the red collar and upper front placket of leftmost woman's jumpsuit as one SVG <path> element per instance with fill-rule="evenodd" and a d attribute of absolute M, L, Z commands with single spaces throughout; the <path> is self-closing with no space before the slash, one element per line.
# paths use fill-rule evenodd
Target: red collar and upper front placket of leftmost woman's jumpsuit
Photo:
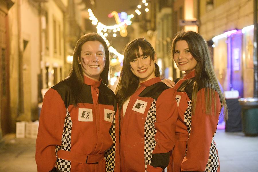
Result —
<path fill-rule="evenodd" d="M 93 99 L 93 104 L 96 105 L 98 102 L 98 97 L 99 97 L 99 86 L 102 82 L 102 79 L 100 79 L 99 81 L 94 81 L 93 79 L 90 79 L 88 77 L 86 77 L 85 75 L 84 77 L 84 83 L 87 85 L 91 86 L 91 96 Z"/>

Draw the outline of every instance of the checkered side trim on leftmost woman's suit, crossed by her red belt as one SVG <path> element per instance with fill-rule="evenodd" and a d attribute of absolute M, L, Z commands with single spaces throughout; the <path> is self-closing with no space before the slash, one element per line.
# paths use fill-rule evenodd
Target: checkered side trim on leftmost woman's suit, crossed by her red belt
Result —
<path fill-rule="evenodd" d="M 58 150 L 66 150 L 71 151 L 71 135 L 72 135 L 72 119 L 68 109 L 66 109 L 66 118 L 64 120 L 64 130 L 62 135 L 62 144 L 60 146 L 56 146 L 56 157 Z M 57 157 L 56 160 L 57 168 L 63 172 L 71 171 L 71 161 L 60 159 Z"/>

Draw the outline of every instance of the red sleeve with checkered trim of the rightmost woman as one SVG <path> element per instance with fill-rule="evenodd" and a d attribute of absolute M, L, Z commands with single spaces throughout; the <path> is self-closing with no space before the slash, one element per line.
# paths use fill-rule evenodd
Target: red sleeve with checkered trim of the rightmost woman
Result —
<path fill-rule="evenodd" d="M 218 93 L 212 100 L 211 113 L 206 113 L 205 90 L 197 94 L 195 114 L 191 116 L 191 102 L 188 108 L 190 113 L 185 113 L 185 123 L 189 132 L 186 154 L 181 164 L 181 171 L 206 171 L 219 172 L 218 151 L 214 142 L 218 117 L 221 109 Z M 216 104 L 216 110 L 215 106 Z M 216 114 L 215 114 L 216 112 Z M 186 120 L 187 119 L 187 120 Z"/>

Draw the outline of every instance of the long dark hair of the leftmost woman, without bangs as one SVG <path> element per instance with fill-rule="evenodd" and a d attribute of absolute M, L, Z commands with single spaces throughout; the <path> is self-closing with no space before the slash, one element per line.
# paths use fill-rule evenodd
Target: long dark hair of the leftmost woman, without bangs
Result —
<path fill-rule="evenodd" d="M 102 78 L 102 83 L 108 85 L 108 71 L 109 71 L 109 50 L 105 40 L 97 33 L 88 33 L 77 41 L 76 46 L 73 51 L 73 66 L 72 70 L 67 78 L 69 81 L 69 87 L 72 92 L 72 97 L 74 99 L 74 105 L 76 106 L 80 100 L 80 92 L 84 83 L 83 71 L 81 64 L 79 64 L 78 57 L 81 58 L 81 47 L 87 41 L 99 41 L 105 49 L 105 67 L 100 74 Z"/>

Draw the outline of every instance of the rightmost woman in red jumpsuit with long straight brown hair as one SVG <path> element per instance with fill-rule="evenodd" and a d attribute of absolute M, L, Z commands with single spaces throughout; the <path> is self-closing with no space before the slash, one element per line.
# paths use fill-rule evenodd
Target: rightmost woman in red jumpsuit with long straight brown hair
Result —
<path fill-rule="evenodd" d="M 185 76 L 176 79 L 178 120 L 169 172 L 219 172 L 214 135 L 221 107 L 227 106 L 216 79 L 206 42 L 196 32 L 179 32 L 172 57 Z"/>

